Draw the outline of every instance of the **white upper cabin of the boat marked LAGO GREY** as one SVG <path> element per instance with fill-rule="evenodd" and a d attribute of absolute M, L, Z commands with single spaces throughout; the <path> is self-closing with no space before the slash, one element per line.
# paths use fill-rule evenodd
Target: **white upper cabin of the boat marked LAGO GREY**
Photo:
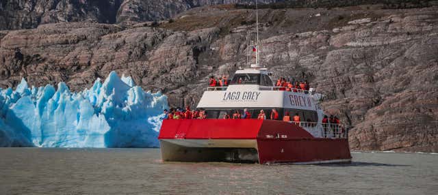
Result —
<path fill-rule="evenodd" d="M 319 106 L 321 94 L 314 93 L 313 89 L 285 91 L 284 87 L 274 87 L 270 75 L 266 68 L 237 70 L 228 87 L 208 87 L 197 108 L 205 109 L 208 119 L 223 119 L 227 113 L 233 115 L 235 110 L 242 114 L 244 108 L 252 119 L 257 119 L 260 110 L 270 119 L 275 108 L 280 120 L 286 113 L 291 119 L 298 113 L 300 126 L 315 137 L 341 136 L 339 130 L 324 131 L 324 112 Z"/>

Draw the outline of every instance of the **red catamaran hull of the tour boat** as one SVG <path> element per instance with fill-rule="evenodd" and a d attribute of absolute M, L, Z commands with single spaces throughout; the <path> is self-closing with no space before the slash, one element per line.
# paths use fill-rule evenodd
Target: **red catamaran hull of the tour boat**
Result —
<path fill-rule="evenodd" d="M 346 138 L 314 138 L 298 125 L 257 119 L 164 120 L 164 161 L 350 162 Z"/>

